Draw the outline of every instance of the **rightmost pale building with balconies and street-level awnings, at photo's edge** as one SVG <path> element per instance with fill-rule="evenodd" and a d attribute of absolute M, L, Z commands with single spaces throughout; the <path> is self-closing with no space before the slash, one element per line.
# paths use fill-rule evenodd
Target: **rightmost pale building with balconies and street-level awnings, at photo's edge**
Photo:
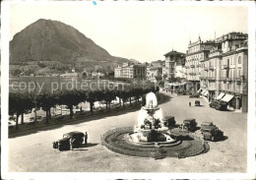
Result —
<path fill-rule="evenodd" d="M 221 92 L 229 106 L 247 112 L 248 106 L 248 34 L 230 32 L 218 40 L 222 43 Z"/>

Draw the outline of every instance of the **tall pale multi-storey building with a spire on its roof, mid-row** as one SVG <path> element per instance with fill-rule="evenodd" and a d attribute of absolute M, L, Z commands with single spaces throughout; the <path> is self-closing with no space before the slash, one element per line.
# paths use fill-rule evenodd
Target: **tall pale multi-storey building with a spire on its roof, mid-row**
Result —
<path fill-rule="evenodd" d="M 196 42 L 189 42 L 188 50 L 186 53 L 186 75 L 187 81 L 191 84 L 193 91 L 197 91 L 200 87 L 205 85 L 200 85 L 200 77 L 202 72 L 201 62 L 208 58 L 210 49 L 216 46 L 215 40 L 208 40 L 206 42 L 202 41 L 200 36 Z"/>

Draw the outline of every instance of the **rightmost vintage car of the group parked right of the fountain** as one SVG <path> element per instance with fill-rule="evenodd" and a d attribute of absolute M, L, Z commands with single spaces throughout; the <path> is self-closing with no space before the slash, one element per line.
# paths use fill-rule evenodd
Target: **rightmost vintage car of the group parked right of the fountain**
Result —
<path fill-rule="evenodd" d="M 219 130 L 213 122 L 202 123 L 200 130 L 204 140 L 217 141 L 224 137 L 224 132 Z"/>

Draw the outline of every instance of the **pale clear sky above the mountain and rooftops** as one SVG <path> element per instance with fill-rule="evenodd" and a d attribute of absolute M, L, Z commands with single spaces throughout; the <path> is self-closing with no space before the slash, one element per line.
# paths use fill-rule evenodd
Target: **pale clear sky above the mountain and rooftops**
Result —
<path fill-rule="evenodd" d="M 178 6 L 171 3 L 17 3 L 10 8 L 10 40 L 38 19 L 70 25 L 111 55 L 140 62 L 185 53 L 189 40 L 248 31 L 245 6 Z"/>

